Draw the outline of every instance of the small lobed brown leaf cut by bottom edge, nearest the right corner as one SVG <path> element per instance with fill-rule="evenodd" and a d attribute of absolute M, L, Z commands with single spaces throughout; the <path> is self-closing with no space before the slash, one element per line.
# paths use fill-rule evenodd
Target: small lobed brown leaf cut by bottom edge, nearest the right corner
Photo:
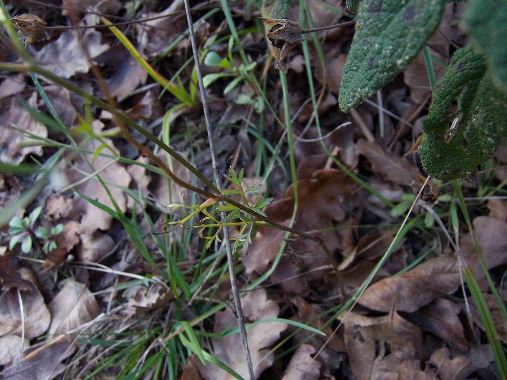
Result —
<path fill-rule="evenodd" d="M 456 356 L 451 360 L 447 348 L 433 352 L 428 364 L 436 370 L 442 380 L 462 380 L 477 369 L 464 356 Z"/>

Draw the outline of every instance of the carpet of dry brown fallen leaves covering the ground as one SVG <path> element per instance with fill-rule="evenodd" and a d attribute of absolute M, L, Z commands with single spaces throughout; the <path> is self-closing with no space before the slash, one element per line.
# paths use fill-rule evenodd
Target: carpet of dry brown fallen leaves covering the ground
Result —
<path fill-rule="evenodd" d="M 113 12 L 120 12 L 121 9 L 126 11 L 128 8 L 120 2 L 114 3 L 114 6 L 108 6 Z M 328 8 L 322 7 L 320 2 L 308 3 L 310 12 L 318 23 L 325 25 L 339 20 L 340 16 L 332 14 L 329 9 L 340 7 L 341 2 L 327 2 Z M 64 4 L 68 6 L 71 2 Z M 99 3 L 86 4 L 93 8 Z M 77 9 L 78 5 L 81 3 L 74 2 L 71 6 Z M 242 26 L 253 25 L 243 12 L 244 8 L 236 4 L 231 4 L 231 7 L 234 7 L 237 16 L 244 16 Z M 140 6 L 141 18 L 167 15 L 165 19 L 136 25 L 133 29 L 133 42 L 145 58 L 152 61 L 154 57 L 159 57 L 170 43 L 182 35 L 187 28 L 183 9 L 183 2 L 180 1 L 173 2 L 165 9 L 161 6 L 154 9 Z M 80 9 L 80 12 L 84 14 L 85 9 Z M 296 7 L 291 12 L 294 19 L 297 19 Z M 443 22 L 430 40 L 433 53 L 439 54 L 439 59 L 444 62 L 447 62 L 449 50 L 452 50 L 447 36 L 452 34 L 455 40 L 462 37 L 456 34 L 452 24 L 456 12 L 460 12 L 457 6 L 447 6 Z M 85 16 L 88 17 L 86 22 L 97 22 L 95 16 L 88 16 Z M 95 21 L 92 20 L 93 17 Z M 51 17 L 47 21 L 51 22 Z M 223 25 L 220 24 L 221 21 L 217 19 L 201 22 L 197 29 L 203 43 L 204 32 L 212 34 L 218 31 L 221 36 L 225 35 L 221 31 Z M 147 130 L 161 133 L 161 117 L 170 106 L 177 104 L 177 100 L 167 94 L 159 99 L 160 92 L 151 90 L 153 81 L 146 70 L 120 48 L 118 42 L 112 40 L 104 29 L 87 30 L 83 34 L 82 41 L 89 49 L 91 58 L 103 70 L 111 95 L 118 100 L 121 109 Z M 309 48 L 312 52 L 311 69 L 314 77 L 320 85 L 327 86 L 325 97 L 317 109 L 321 127 L 328 133 L 338 124 L 352 120 L 350 115 L 339 112 L 336 106 L 351 29 L 341 28 L 320 32 L 319 35 L 322 37 L 323 56 L 327 64 L 324 70 L 316 58 L 318 54 L 313 44 Z M 99 89 L 89 74 L 90 62 L 82 54 L 79 34 L 74 30 L 65 30 L 48 33 L 47 38 L 49 41 L 34 42 L 28 47 L 35 60 L 61 77 L 87 88 L 87 91 L 98 92 Z M 244 37 L 244 48 L 250 59 L 262 58 L 255 45 L 260 46 L 264 41 L 260 33 Z M 220 44 L 217 44 L 217 51 L 225 53 L 225 45 L 221 50 Z M 188 48 L 189 41 L 184 37 L 172 51 L 167 52 L 165 58 L 160 58 L 162 63 L 159 63 L 157 69 L 170 77 L 188 59 Z M 263 46 L 262 54 L 264 53 Z M 236 55 L 235 52 L 234 54 Z M 287 52 L 286 63 L 291 112 L 295 115 L 301 110 L 294 123 L 298 133 L 304 129 L 304 123 L 314 120 L 312 107 L 305 103 L 310 94 L 308 83 L 302 75 L 305 65 L 302 54 L 301 45 L 296 44 L 292 51 Z M 122 57 L 121 60 L 118 57 Z M 428 96 L 427 75 L 421 69 L 421 62 L 420 58 L 416 58 L 404 71 L 403 78 L 400 76 L 382 90 L 386 101 L 384 106 L 390 107 L 403 118 L 407 117 L 405 112 L 413 112 L 414 104 L 423 103 Z M 193 81 L 192 69 L 189 67 L 180 74 L 182 84 L 187 88 Z M 439 67 L 434 64 L 437 75 L 441 75 Z M 281 90 L 277 84 L 278 74 L 272 68 L 266 72 L 270 83 L 266 96 L 273 104 L 279 104 Z M 261 70 L 256 73 L 260 74 Z M 405 84 L 402 83 L 403 80 Z M 249 123 L 258 125 L 260 116 L 248 105 L 233 103 L 234 97 L 224 96 L 222 90 L 227 83 L 229 82 L 219 81 L 208 88 L 209 97 L 213 99 L 212 117 L 220 120 L 221 124 L 220 127 L 217 126 L 214 136 L 219 146 L 221 169 L 226 172 L 229 165 L 234 163 L 235 168 L 245 167 L 248 177 L 259 181 L 256 177 L 259 174 L 256 172 L 256 159 L 251 155 L 258 142 L 251 135 L 246 135 L 249 139 L 247 148 L 244 136 L 223 125 L 237 124 L 244 128 L 246 117 L 249 118 Z M 143 88 L 145 85 L 152 87 Z M 73 131 L 80 130 L 81 127 L 82 132 L 83 100 L 44 81 L 43 88 L 63 124 Z M 251 91 L 251 86 L 242 87 L 232 94 L 238 95 L 241 91 L 246 91 L 248 96 L 255 94 Z M 393 96 L 396 99 L 391 104 Z M 33 137 L 62 140 L 62 136 L 31 119 L 24 103 L 44 112 L 47 112 L 47 107 L 33 90 L 26 75 L 6 76 L 0 84 L 0 98 L 0 121 L 5 130 L 0 137 L 2 163 L 31 163 L 32 158 L 44 162 L 50 155 L 50 149 L 37 144 L 29 146 L 36 141 Z M 234 115 L 224 112 L 225 109 Z M 424 112 L 424 107 L 421 109 L 420 112 Z M 356 117 L 351 127 L 336 130 L 325 140 L 328 148 L 335 148 L 334 157 L 377 189 L 383 197 L 394 203 L 403 202 L 403 196 L 412 195 L 413 188 L 420 186 L 421 182 L 422 172 L 414 164 L 415 161 L 402 156 L 404 147 L 413 145 L 412 136 L 394 134 L 393 131 L 389 132 L 390 137 L 380 136 L 377 129 L 380 114 L 371 106 L 359 106 L 357 115 L 364 125 L 359 127 Z M 269 126 L 266 139 L 275 145 L 281 134 L 280 127 L 274 123 L 272 115 L 266 113 L 263 117 Z M 198 126 L 203 124 L 200 113 L 174 117 L 170 123 L 171 136 L 179 135 L 171 141 L 171 147 L 184 153 L 185 158 L 195 163 L 205 174 L 211 173 L 206 136 L 198 130 Z M 388 126 L 389 123 L 392 128 L 395 121 L 388 120 Z M 19 130 L 12 129 L 12 126 Z M 140 155 L 137 150 L 126 147 L 114 133 L 104 137 L 114 127 L 111 115 L 95 109 L 88 128 L 92 135 L 101 136 L 101 141 L 90 140 L 83 134 L 78 136 L 78 142 L 83 144 L 80 147 L 86 151 L 82 155 L 70 156 L 62 166 L 61 173 L 66 183 L 56 191 L 62 188 L 64 191 L 54 194 L 53 183 L 34 201 L 45 206 L 41 224 L 64 225 L 63 232 L 55 238 L 57 248 L 54 251 L 43 253 L 37 244 L 34 244 L 29 257 L 21 255 L 17 247 L 9 251 L 8 232 L 7 229 L 2 230 L 2 378 L 78 378 L 74 376 L 83 371 L 88 371 L 86 374 L 89 374 L 100 365 L 96 358 L 101 355 L 107 358 L 114 352 L 108 351 L 106 346 L 86 344 L 87 336 L 106 341 L 103 336 L 110 333 L 146 331 L 157 326 L 167 327 L 167 323 L 172 323 L 172 320 L 167 322 L 167 313 L 179 302 L 183 290 L 174 289 L 174 292 L 166 284 L 157 282 L 172 263 L 160 252 L 157 243 L 154 243 L 156 239 L 150 240 L 149 236 L 158 236 L 160 231 L 170 230 L 172 234 L 168 239 L 183 247 L 186 229 L 168 229 L 164 223 L 171 216 L 177 219 L 185 217 L 188 210 L 184 207 L 174 210 L 168 206 L 189 206 L 191 194 L 175 183 L 168 182 L 159 171 L 147 170 L 142 165 L 150 164 L 148 158 Z M 187 131 L 192 129 L 192 138 L 185 137 Z M 318 136 L 314 124 L 307 131 L 304 138 Z M 140 135 L 134 137 L 140 143 L 147 143 Z M 241 149 L 241 144 L 244 149 Z M 94 156 L 98 150 L 110 157 Z M 115 159 L 118 155 L 135 161 L 126 164 Z M 271 191 L 269 196 L 274 195 L 275 200 L 264 212 L 273 220 L 288 224 L 297 203 L 298 211 L 293 226 L 312 232 L 325 242 L 338 263 L 343 288 L 351 296 L 387 251 L 400 218 L 392 215 L 378 197 L 365 191 L 332 163 L 323 154 L 318 142 L 297 142 L 296 157 L 297 199 L 294 184 L 290 184 L 283 174 L 288 167 L 283 167 L 287 165 L 286 162 L 283 165 L 277 164 L 270 176 L 271 188 L 268 187 L 267 190 Z M 159 158 L 165 160 L 165 155 L 161 154 Z M 192 183 L 190 173 L 175 160 L 172 160 L 170 167 L 179 178 Z M 98 177 L 105 183 L 107 191 Z M 4 208 L 18 198 L 22 189 L 27 188 L 34 179 L 30 176 L 18 178 L 1 174 L 0 207 Z M 66 185 L 71 186 L 67 188 Z M 448 191 L 445 184 L 442 188 Z M 263 188 L 262 192 L 265 191 Z M 474 194 L 473 189 L 467 191 L 470 195 Z M 139 228 L 153 262 L 148 263 L 137 246 L 128 241 L 125 224 L 85 201 L 78 192 L 106 207 L 117 209 L 128 217 L 137 215 Z M 252 201 L 252 197 L 249 197 L 248 202 Z M 503 253 L 507 242 L 502 240 L 507 236 L 506 204 L 505 201 L 490 200 L 489 211 L 482 206 L 474 210 L 473 224 L 478 244 L 484 254 L 486 267 L 497 285 L 500 284 L 506 264 Z M 434 200 L 431 203 L 435 208 L 442 205 Z M 33 208 L 32 205 L 27 210 Z M 418 207 L 416 212 L 422 212 L 421 210 Z M 18 210 L 20 217 L 28 213 L 25 213 L 24 208 Z M 160 223 L 147 222 L 143 218 L 145 213 L 155 221 L 159 219 Z M 196 217 L 194 223 L 198 222 Z M 160 227 L 160 231 L 154 230 L 156 226 Z M 457 252 L 439 236 L 439 249 L 433 249 L 423 262 L 399 274 L 428 246 L 428 236 L 421 231 L 410 232 L 394 250 L 371 285 L 358 298 L 352 312 L 329 321 L 332 315 L 329 310 L 339 305 L 341 289 L 328 256 L 313 241 L 295 236 L 287 239 L 284 232 L 265 226 L 258 227 L 255 236 L 252 236 L 248 254 L 240 257 L 245 268 L 240 278 L 242 284 L 246 285 L 270 272 L 269 281 L 266 282 L 270 286 L 242 295 L 245 321 L 248 324 L 283 317 L 321 329 L 325 336 L 312 335 L 306 330 L 298 331 L 296 327 L 283 322 L 262 322 L 248 328 L 248 343 L 256 378 L 492 378 L 488 377 L 492 375 L 492 353 L 481 339 L 484 326 L 472 300 L 465 299 L 460 289 Z M 472 235 L 466 231 L 464 224 L 460 226 L 462 236 L 459 239 L 459 253 L 478 278 L 492 311 L 499 338 L 506 343 L 505 321 L 485 286 L 484 272 Z M 193 267 L 204 244 L 204 239 L 199 234 L 191 234 L 191 240 L 177 262 L 183 271 Z M 285 249 L 280 251 L 282 244 L 285 244 Z M 271 272 L 275 263 L 276 268 Z M 91 264 L 103 272 L 85 267 Z M 190 275 L 183 276 L 189 278 Z M 129 283 L 132 281 L 137 282 Z M 226 281 L 203 287 L 205 294 L 213 294 L 213 302 L 228 301 L 229 290 Z M 502 297 L 505 302 L 504 293 Z M 190 321 L 196 317 L 194 313 L 192 306 L 185 309 L 183 314 Z M 472 321 L 467 320 L 468 314 L 472 316 Z M 234 311 L 226 307 L 193 327 L 211 334 L 202 340 L 204 350 L 246 378 L 248 372 L 238 335 L 221 336 L 236 326 Z M 103 335 L 94 335 L 96 332 Z M 65 337 L 58 334 L 65 334 Z M 76 339 L 78 335 L 81 336 L 80 339 Z M 55 340 L 56 336 L 61 336 L 61 340 Z M 152 343 L 155 344 L 157 339 L 153 338 Z M 127 341 L 132 343 L 134 339 L 126 338 L 124 343 Z M 111 345 L 115 340 L 113 338 L 107 342 Z M 79 352 L 80 356 L 75 352 Z M 198 356 L 190 351 L 186 361 L 186 364 L 181 365 L 181 378 L 233 378 L 214 364 L 207 363 L 204 366 Z M 112 365 L 111 368 L 112 372 L 121 370 L 118 365 Z M 150 378 L 151 375 L 153 372 L 149 370 L 144 378 Z"/>

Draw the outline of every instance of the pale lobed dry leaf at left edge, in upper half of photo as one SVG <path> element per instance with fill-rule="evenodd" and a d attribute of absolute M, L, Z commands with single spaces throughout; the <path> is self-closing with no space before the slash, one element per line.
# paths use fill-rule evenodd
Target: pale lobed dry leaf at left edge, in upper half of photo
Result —
<path fill-rule="evenodd" d="M 28 105 L 37 108 L 37 92 L 34 92 L 28 99 Z M 48 130 L 44 124 L 31 118 L 28 111 L 18 104 L 18 100 L 12 98 L 8 109 L 0 113 L 0 126 L 2 126 L 2 135 L 0 136 L 0 161 L 6 164 L 18 165 L 27 155 L 42 156 L 41 145 L 23 146 L 20 144 L 35 142 L 22 132 L 18 132 L 11 126 L 31 133 L 39 137 L 48 137 Z"/>

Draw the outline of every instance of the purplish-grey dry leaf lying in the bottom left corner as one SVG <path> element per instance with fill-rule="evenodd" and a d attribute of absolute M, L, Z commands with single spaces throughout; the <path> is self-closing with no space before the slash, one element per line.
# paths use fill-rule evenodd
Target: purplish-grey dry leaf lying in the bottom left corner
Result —
<path fill-rule="evenodd" d="M 75 351 L 67 340 L 60 340 L 45 347 L 37 355 L 6 368 L 0 376 L 9 380 L 51 380 L 62 373 L 66 366 L 61 364 Z"/>

